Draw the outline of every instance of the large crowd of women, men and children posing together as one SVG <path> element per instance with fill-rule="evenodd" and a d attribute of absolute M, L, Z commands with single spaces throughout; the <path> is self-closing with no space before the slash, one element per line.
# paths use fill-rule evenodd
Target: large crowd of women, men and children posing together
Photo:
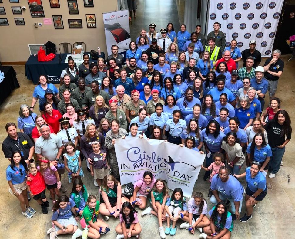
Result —
<path fill-rule="evenodd" d="M 234 39 L 225 48 L 220 24 L 213 27 L 205 38 L 200 25 L 190 34 L 182 24 L 176 34 L 172 23 L 160 33 L 152 23 L 130 42 L 125 58 L 117 45 L 97 64 L 89 64 L 84 54 L 77 68 L 69 57 L 59 89 L 41 75 L 31 106 L 20 106 L 17 125 L 6 124 L 2 143 L 10 162 L 9 192 L 20 201 L 22 215 L 32 218 L 39 211 L 29 205 L 31 197 L 48 213 L 47 189 L 54 201 L 50 238 L 82 236 L 78 222 L 89 238 L 99 238 L 110 230 L 99 214 L 105 221 L 119 218 L 117 239 L 138 237 L 142 229 L 136 207 L 144 210 L 142 215 L 158 218 L 161 238 L 176 234 L 178 220 L 192 234 L 197 228 L 201 238 L 230 238 L 234 220 L 251 219 L 267 195 L 266 176 L 277 175 L 291 139 L 289 114 L 275 97 L 284 64 L 274 50 L 259 65 L 255 40 L 242 53 Z M 244 65 L 238 69 L 241 59 Z M 265 107 L 267 91 L 270 105 Z M 169 194 L 166 183 L 148 171 L 134 183 L 131 195 L 121 195 L 114 146 L 126 137 L 164 140 L 205 154 L 203 180 L 209 179 L 214 207 L 208 209 L 201 192 L 190 199 L 181 188 Z M 100 198 L 87 193 L 82 182 L 87 173 Z M 239 182 L 243 177 L 246 190 Z M 68 195 L 65 183 L 72 185 Z M 244 194 L 246 212 L 240 216 Z"/>

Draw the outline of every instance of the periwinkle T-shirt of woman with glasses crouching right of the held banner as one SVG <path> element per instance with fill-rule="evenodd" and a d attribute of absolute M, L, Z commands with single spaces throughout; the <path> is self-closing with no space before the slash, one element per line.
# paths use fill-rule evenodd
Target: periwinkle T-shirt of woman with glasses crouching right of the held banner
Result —
<path fill-rule="evenodd" d="M 233 199 L 235 202 L 243 200 L 244 188 L 234 176 L 228 175 L 226 182 L 222 182 L 217 176 L 218 174 L 215 174 L 212 178 L 211 190 L 217 190 L 224 198 Z"/>

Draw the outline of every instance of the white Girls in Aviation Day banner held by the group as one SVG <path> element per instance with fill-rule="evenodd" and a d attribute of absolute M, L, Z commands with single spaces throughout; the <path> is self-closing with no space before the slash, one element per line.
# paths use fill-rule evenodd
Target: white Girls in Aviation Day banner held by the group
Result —
<path fill-rule="evenodd" d="M 155 139 L 125 138 L 115 143 L 121 184 L 136 182 L 145 171 L 162 178 L 168 188 L 181 188 L 190 197 L 205 155 Z"/>

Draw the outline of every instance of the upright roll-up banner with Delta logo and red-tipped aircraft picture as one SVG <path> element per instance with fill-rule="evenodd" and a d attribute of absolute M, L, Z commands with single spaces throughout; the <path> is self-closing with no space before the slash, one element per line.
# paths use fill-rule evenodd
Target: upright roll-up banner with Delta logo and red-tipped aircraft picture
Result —
<path fill-rule="evenodd" d="M 128 9 L 103 13 L 102 17 L 108 55 L 112 54 L 112 45 L 117 45 L 119 47 L 118 53 L 125 53 L 126 50 L 129 49 L 130 43 Z"/>

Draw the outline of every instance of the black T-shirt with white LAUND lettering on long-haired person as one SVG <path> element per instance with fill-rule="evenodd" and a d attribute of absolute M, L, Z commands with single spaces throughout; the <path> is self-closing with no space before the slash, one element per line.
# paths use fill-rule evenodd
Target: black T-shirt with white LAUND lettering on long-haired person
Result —
<path fill-rule="evenodd" d="M 267 140 L 270 147 L 275 148 L 282 145 L 286 140 L 286 134 L 281 135 L 283 126 L 274 119 L 268 121 L 264 127 L 267 132 Z M 291 139 L 292 131 L 287 134 L 287 139 Z"/>

